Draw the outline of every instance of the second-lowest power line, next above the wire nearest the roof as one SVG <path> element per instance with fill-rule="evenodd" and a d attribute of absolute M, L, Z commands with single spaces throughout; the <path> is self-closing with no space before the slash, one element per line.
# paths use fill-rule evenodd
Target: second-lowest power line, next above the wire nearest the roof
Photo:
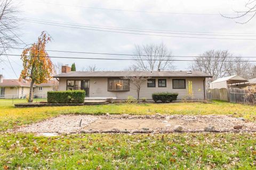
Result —
<path fill-rule="evenodd" d="M 2 47 L 0 47 L 2 48 Z M 19 47 L 5 47 L 5 48 L 13 48 L 13 49 L 25 49 Z M 117 56 L 154 56 L 154 57 L 206 57 L 210 58 L 210 56 L 181 56 L 181 55 L 138 55 L 138 54 L 119 54 L 119 53 L 93 53 L 93 52 L 77 52 L 77 51 L 66 51 L 66 50 L 51 50 L 47 49 L 48 52 L 58 52 L 58 53 L 77 53 L 77 54 L 97 54 L 97 55 L 117 55 Z M 211 58 L 221 58 L 218 56 L 211 56 Z M 249 56 L 249 57 L 233 57 L 233 56 L 226 56 L 226 58 L 256 58 L 256 56 Z"/>

